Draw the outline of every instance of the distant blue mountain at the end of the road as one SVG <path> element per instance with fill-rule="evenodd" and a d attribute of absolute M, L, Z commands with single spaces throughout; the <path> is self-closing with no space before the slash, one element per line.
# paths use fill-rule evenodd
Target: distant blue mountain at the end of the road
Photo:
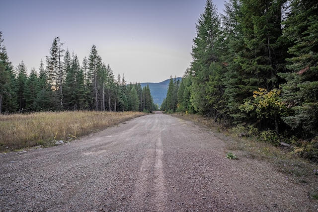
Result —
<path fill-rule="evenodd" d="M 177 77 L 181 81 L 181 77 Z M 153 96 L 154 103 L 158 104 L 159 107 L 163 101 L 163 99 L 167 96 L 168 86 L 169 86 L 170 79 L 164 80 L 162 82 L 143 82 L 140 83 L 141 87 L 149 85 L 149 89 L 151 95 Z"/>

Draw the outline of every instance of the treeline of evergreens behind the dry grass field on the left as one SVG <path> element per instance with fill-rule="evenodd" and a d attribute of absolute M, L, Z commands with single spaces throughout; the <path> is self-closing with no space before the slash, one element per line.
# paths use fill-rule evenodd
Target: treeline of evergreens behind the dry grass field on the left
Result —
<path fill-rule="evenodd" d="M 76 54 L 62 48 L 60 38 L 53 40 L 46 65 L 27 74 L 23 61 L 13 67 L 0 32 L 0 112 L 17 111 L 144 111 L 157 109 L 149 86 L 126 85 L 118 74 L 115 79 L 93 45 L 88 58 L 79 64 Z"/>

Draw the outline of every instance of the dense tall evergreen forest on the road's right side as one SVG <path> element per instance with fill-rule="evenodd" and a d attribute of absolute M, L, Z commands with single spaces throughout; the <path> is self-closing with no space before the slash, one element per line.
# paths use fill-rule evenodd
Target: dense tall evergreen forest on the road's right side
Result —
<path fill-rule="evenodd" d="M 166 112 L 198 113 L 318 160 L 318 1 L 207 0 Z"/>

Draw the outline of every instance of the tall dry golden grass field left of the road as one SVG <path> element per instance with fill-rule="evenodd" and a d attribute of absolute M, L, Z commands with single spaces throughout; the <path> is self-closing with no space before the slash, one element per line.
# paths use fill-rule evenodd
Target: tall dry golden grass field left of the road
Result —
<path fill-rule="evenodd" d="M 0 151 L 69 140 L 142 116 L 139 112 L 40 112 L 0 115 Z"/>

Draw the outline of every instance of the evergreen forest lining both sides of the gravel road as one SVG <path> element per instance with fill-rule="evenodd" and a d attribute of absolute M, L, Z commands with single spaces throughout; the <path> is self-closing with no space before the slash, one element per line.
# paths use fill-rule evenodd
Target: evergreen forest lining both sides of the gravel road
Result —
<path fill-rule="evenodd" d="M 207 0 L 192 62 L 170 77 L 161 110 L 196 113 L 318 160 L 318 2 Z M 53 40 L 45 64 L 13 67 L 0 33 L 0 112 L 158 109 L 149 86 L 115 79 L 93 45 L 82 64 Z"/>

